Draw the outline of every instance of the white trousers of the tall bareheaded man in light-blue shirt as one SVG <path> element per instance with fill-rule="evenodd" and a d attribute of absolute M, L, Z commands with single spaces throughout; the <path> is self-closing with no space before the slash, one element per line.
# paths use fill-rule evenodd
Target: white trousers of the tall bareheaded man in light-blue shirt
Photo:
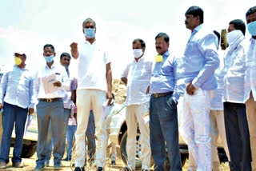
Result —
<path fill-rule="evenodd" d="M 210 91 L 199 88 L 183 97 L 180 133 L 194 157 L 197 171 L 212 171 L 210 145 Z M 191 170 L 191 169 L 190 169 Z"/>

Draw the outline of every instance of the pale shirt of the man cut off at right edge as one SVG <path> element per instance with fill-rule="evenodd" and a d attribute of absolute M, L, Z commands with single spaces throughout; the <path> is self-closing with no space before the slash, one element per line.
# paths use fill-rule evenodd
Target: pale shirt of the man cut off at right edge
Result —
<path fill-rule="evenodd" d="M 249 99 L 250 91 L 252 91 L 254 101 L 256 101 L 256 40 L 254 38 L 250 38 L 250 46 L 246 55 L 244 102 Z"/>

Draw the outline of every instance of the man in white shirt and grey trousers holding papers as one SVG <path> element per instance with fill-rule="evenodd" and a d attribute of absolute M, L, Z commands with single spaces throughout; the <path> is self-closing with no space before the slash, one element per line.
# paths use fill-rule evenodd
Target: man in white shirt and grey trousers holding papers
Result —
<path fill-rule="evenodd" d="M 43 47 L 43 56 L 46 63 L 38 70 L 34 77 L 34 101 L 38 101 L 38 160 L 34 170 L 42 170 L 46 160 L 46 140 L 51 122 L 52 140 L 54 145 L 54 169 L 62 167 L 65 141 L 65 125 L 63 97 L 70 88 L 66 70 L 58 62 L 54 62 L 54 46 L 46 44 Z M 49 76 L 52 78 L 46 80 Z"/>

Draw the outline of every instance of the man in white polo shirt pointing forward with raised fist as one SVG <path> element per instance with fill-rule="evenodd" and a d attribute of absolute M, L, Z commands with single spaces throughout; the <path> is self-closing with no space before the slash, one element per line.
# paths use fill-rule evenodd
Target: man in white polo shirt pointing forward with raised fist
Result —
<path fill-rule="evenodd" d="M 91 18 L 86 18 L 82 23 L 82 31 L 86 36 L 86 42 L 78 51 L 78 43 L 73 42 L 71 55 L 78 59 L 78 129 L 76 138 L 75 171 L 84 170 L 85 162 L 85 134 L 90 115 L 90 108 L 94 111 L 96 137 L 96 165 L 98 171 L 103 170 L 106 163 L 106 130 L 102 129 L 104 116 L 102 104 L 108 99 L 108 105 L 112 100 L 112 71 L 110 60 L 106 51 L 96 41 L 96 23 Z"/>

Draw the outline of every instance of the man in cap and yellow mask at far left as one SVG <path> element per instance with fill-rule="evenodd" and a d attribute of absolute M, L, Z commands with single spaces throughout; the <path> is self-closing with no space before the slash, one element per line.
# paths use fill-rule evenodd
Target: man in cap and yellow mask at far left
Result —
<path fill-rule="evenodd" d="M 0 169 L 6 169 L 9 162 L 10 139 L 15 123 L 15 145 L 12 157 L 13 167 L 21 168 L 22 139 L 27 113 L 34 113 L 32 101 L 33 77 L 26 68 L 26 54 L 14 53 L 15 65 L 3 75 L 0 85 L 0 109 L 2 113 L 2 145 Z"/>

